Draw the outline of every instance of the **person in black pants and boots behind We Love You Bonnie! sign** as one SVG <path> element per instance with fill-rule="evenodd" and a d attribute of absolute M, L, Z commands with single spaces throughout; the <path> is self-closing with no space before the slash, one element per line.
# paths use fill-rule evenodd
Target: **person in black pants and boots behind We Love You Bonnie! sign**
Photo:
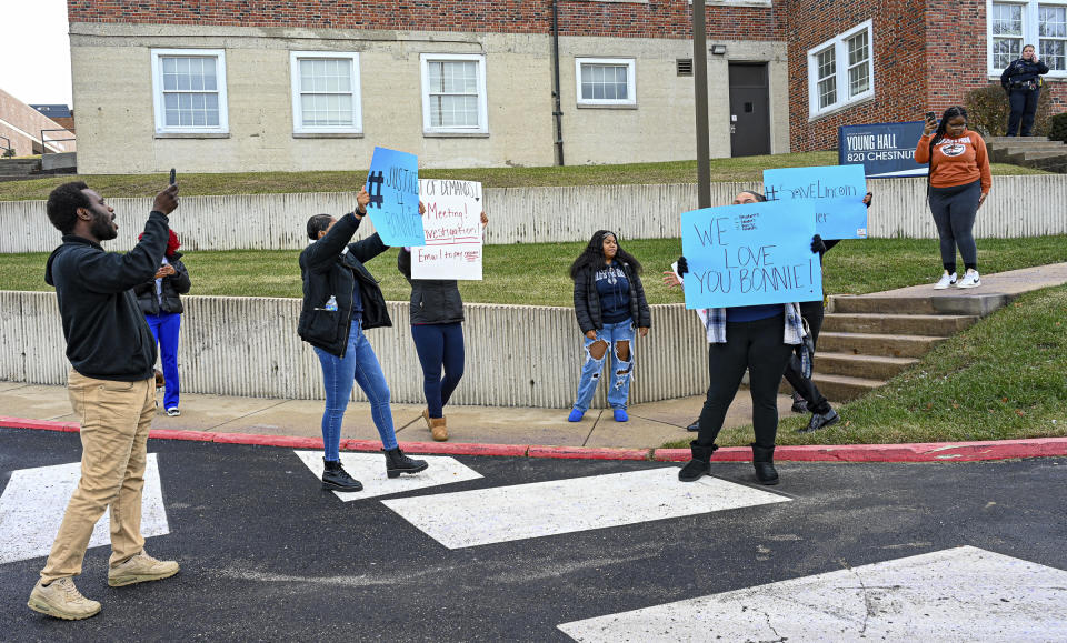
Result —
<path fill-rule="evenodd" d="M 745 191 L 735 197 L 734 204 L 766 200 L 762 194 Z M 681 285 L 687 272 L 688 262 L 681 257 L 678 259 L 678 274 L 665 272 L 664 283 L 669 288 Z M 695 482 L 710 473 L 711 454 L 718 450 L 715 440 L 747 369 L 756 433 L 751 444 L 756 480 L 762 484 L 778 484 L 774 463 L 778 385 L 794 348 L 805 336 L 800 308 L 796 302 L 714 308 L 706 311 L 705 319 L 710 383 L 697 421 L 697 439 L 690 443 L 692 458 L 678 472 L 678 480 Z"/>

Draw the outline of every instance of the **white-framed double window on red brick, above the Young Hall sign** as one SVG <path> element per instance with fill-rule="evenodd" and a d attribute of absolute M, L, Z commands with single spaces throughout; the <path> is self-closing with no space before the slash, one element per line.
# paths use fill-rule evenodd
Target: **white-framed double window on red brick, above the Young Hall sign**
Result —
<path fill-rule="evenodd" d="M 808 50 L 812 117 L 875 96 L 875 57 L 868 20 Z"/>

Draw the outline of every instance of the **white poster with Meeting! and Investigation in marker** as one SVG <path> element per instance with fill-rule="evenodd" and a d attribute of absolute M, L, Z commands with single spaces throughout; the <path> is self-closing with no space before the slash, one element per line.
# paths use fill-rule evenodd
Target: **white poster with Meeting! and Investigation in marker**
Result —
<path fill-rule="evenodd" d="M 412 279 L 481 279 L 481 183 L 420 179 L 426 245 L 411 248 Z"/>

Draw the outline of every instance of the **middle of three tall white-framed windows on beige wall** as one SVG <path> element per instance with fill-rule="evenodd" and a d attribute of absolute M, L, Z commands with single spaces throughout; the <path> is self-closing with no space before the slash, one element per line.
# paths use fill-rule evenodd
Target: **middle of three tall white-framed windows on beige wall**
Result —
<path fill-rule="evenodd" d="M 293 132 L 362 132 L 358 53 L 291 51 L 289 71 Z"/>

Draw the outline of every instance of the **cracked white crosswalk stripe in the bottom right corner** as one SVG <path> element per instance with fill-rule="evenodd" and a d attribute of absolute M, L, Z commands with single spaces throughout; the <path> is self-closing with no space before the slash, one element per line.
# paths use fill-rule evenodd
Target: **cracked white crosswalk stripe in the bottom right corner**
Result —
<path fill-rule="evenodd" d="M 576 641 L 1064 641 L 1067 572 L 964 546 L 559 625 Z"/>

